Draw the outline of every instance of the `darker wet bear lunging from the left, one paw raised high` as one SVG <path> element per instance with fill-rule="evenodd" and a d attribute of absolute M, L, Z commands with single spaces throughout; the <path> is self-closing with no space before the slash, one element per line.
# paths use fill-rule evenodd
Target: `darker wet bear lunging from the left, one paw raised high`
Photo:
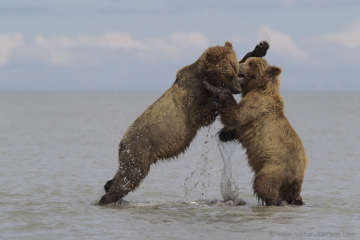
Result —
<path fill-rule="evenodd" d="M 264 41 L 249 56 L 264 56 Z M 245 60 L 243 59 L 243 60 Z M 119 169 L 105 185 L 99 205 L 116 203 L 134 191 L 150 165 L 185 152 L 197 131 L 213 123 L 219 106 L 203 81 L 240 93 L 239 63 L 231 42 L 209 47 L 193 64 L 180 69 L 174 84 L 126 130 L 119 144 Z"/>

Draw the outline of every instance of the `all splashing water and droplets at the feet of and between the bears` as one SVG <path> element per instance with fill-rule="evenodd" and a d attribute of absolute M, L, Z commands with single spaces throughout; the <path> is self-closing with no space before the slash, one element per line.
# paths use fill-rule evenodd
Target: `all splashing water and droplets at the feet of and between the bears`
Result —
<path fill-rule="evenodd" d="M 211 134 L 211 130 L 215 130 Z M 206 130 L 204 130 L 206 131 Z M 195 204 L 195 205 L 209 205 L 209 206 L 225 206 L 225 205 L 246 205 L 248 201 L 243 198 L 238 198 L 239 188 L 231 177 L 231 156 L 234 154 L 237 142 L 227 141 L 222 142 L 219 140 L 219 134 L 216 133 L 219 128 L 209 128 L 207 130 L 206 137 L 199 141 L 204 141 L 202 147 L 199 147 L 199 151 L 195 151 L 199 157 L 199 161 L 196 163 L 196 169 L 186 177 L 185 186 L 185 199 L 181 199 L 179 202 L 176 200 L 164 201 L 163 199 L 148 200 L 124 200 L 121 199 L 113 206 L 143 206 L 145 205 L 162 205 L 162 204 Z M 204 135 L 205 136 L 205 135 Z M 213 139 L 216 141 L 213 141 Z M 210 141 L 212 140 L 212 141 Z M 217 146 L 217 147 L 216 147 Z M 221 162 L 219 158 L 210 157 L 216 156 L 217 149 L 220 150 L 222 157 L 223 168 L 221 169 Z M 199 154 L 199 155 L 198 155 Z M 222 171 L 221 171 L 222 170 Z M 219 200 L 219 178 L 221 176 L 220 183 L 220 195 L 223 200 Z M 215 190 L 215 191 L 214 191 Z M 90 205 L 98 205 L 100 198 L 105 194 L 104 187 L 101 187 L 100 195 L 96 197 Z M 131 198 L 130 198 L 131 199 Z"/>

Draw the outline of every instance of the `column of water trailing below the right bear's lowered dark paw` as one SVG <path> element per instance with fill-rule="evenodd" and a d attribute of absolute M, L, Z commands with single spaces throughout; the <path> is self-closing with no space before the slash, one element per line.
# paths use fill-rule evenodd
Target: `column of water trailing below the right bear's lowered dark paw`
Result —
<path fill-rule="evenodd" d="M 235 140 L 223 142 L 219 139 L 219 133 L 216 134 L 217 146 L 219 147 L 222 160 L 224 161 L 224 169 L 222 171 L 221 182 L 220 182 L 220 193 L 223 202 L 227 203 L 230 201 L 231 205 L 245 205 L 247 200 L 240 198 L 238 186 L 232 187 L 235 183 L 231 183 L 231 156 L 234 154 L 237 146 Z"/>

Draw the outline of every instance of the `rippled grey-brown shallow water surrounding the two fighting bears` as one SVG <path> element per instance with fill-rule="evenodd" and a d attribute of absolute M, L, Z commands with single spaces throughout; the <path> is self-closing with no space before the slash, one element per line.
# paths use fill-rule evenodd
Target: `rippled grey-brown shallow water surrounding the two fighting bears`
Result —
<path fill-rule="evenodd" d="M 160 95 L 1 93 L 0 238 L 360 236 L 360 94 L 283 94 L 310 162 L 305 206 L 258 205 L 239 146 L 231 182 L 248 204 L 222 203 L 218 122 L 201 130 L 179 159 L 153 165 L 124 205 L 91 205 L 116 172 L 126 128 Z"/>

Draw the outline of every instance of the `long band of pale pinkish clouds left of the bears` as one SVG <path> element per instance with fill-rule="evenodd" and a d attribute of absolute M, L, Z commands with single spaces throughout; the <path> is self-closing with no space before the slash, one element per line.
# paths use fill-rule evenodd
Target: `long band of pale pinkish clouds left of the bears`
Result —
<path fill-rule="evenodd" d="M 0 35 L 0 65 L 9 63 L 12 55 L 21 59 L 41 59 L 51 65 L 69 65 L 75 60 L 94 62 L 96 50 L 133 51 L 146 60 L 154 56 L 176 61 L 200 49 L 209 46 L 206 36 L 198 32 L 173 33 L 167 38 L 145 40 L 134 39 L 129 33 L 109 32 L 103 35 L 80 35 L 76 38 L 68 36 L 37 35 L 32 42 L 25 43 L 21 33 Z M 78 51 L 81 49 L 80 51 Z M 79 58 L 78 54 L 85 54 Z"/>

